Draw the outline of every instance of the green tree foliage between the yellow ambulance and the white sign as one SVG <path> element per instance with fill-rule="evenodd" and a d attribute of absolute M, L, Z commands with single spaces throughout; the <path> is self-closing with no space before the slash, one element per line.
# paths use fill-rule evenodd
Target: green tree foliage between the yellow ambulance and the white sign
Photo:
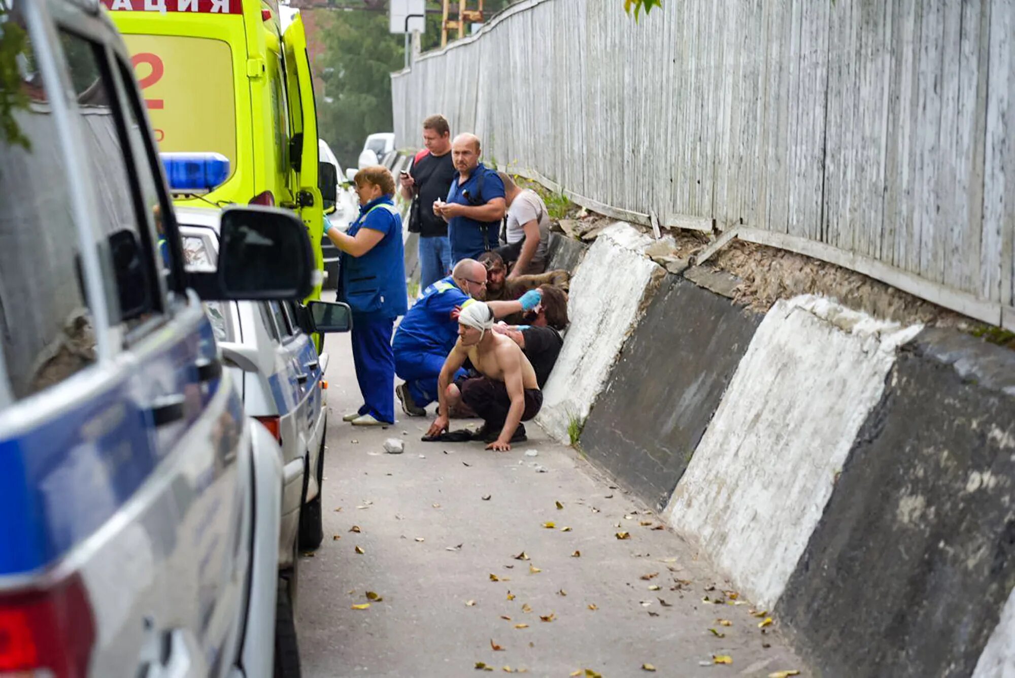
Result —
<path fill-rule="evenodd" d="M 319 132 L 342 165 L 354 167 L 367 135 L 393 129 L 390 74 L 404 65 L 403 38 L 388 32 L 387 13 L 322 14 Z"/>

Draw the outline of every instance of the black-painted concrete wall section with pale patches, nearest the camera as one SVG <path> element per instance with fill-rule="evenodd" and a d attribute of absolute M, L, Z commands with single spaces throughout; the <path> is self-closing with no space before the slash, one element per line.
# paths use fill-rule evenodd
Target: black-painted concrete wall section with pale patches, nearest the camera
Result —
<path fill-rule="evenodd" d="M 1015 586 L 1012 379 L 1015 354 L 957 332 L 899 351 L 776 608 L 821 675 L 973 673 Z M 976 675 L 1015 675 L 1012 632 Z"/>

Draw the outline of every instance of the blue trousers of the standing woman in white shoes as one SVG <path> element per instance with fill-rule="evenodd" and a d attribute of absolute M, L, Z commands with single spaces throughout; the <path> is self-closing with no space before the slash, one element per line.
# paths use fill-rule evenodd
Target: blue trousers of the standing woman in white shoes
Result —
<path fill-rule="evenodd" d="M 393 318 L 354 314 L 352 363 L 363 396 L 359 414 L 395 423 L 395 354 L 391 349 Z"/>

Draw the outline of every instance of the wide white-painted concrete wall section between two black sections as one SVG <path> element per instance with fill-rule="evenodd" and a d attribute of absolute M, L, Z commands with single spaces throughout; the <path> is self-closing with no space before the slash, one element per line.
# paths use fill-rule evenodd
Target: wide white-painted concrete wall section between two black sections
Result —
<path fill-rule="evenodd" d="M 815 296 L 776 302 L 758 327 L 667 510 L 758 604 L 782 595 L 918 331 Z"/>

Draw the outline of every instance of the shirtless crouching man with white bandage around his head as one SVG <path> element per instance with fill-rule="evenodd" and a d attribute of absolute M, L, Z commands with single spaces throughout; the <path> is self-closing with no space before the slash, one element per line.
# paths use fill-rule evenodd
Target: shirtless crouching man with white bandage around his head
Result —
<path fill-rule="evenodd" d="M 512 443 L 526 439 L 522 422 L 539 412 L 543 392 L 536 382 L 536 370 L 522 349 L 492 328 L 493 312 L 487 304 L 474 301 L 462 309 L 458 317 L 458 342 L 437 380 L 441 401 L 437 418 L 427 435 L 438 435 L 448 429 L 449 407 L 461 397 L 463 403 L 482 417 L 483 426 L 475 437 L 488 443 L 487 450 L 507 452 Z M 483 377 L 452 384 L 466 358 Z"/>

